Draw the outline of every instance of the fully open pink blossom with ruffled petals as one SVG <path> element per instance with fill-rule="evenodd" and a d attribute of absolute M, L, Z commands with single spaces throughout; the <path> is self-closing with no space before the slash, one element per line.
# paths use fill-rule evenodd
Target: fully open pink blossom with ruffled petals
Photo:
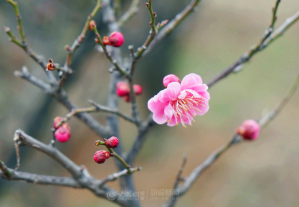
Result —
<path fill-rule="evenodd" d="M 169 83 L 148 102 L 153 112 L 153 120 L 158 124 L 168 122 L 168 126 L 181 123 L 191 125 L 195 115 L 203 115 L 209 109 L 210 94 L 202 84 L 201 77 L 194 73 L 186 75 L 182 82 Z"/>

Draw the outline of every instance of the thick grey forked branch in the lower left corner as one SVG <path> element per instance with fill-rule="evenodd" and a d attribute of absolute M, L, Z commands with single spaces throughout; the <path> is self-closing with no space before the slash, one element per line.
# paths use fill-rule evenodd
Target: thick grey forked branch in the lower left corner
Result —
<path fill-rule="evenodd" d="M 40 185 L 86 188 L 93 192 L 96 196 L 108 199 L 107 194 L 115 190 L 105 186 L 105 183 L 108 181 L 114 181 L 128 174 L 128 172 L 132 173 L 141 170 L 141 168 L 130 168 L 119 173 L 114 173 L 102 180 L 98 180 L 92 177 L 84 166 L 79 167 L 56 148 L 34 139 L 20 129 L 15 131 L 13 139 L 18 146 L 27 146 L 41 151 L 49 157 L 52 157 L 72 175 L 72 178 L 18 172 L 16 170 L 7 168 L 7 166 L 0 160 L 0 177 L 6 180 L 25 181 L 27 183 Z M 123 207 L 130 207 L 129 202 L 126 201 L 124 196 L 120 194 L 116 195 L 116 199 L 112 202 Z"/>

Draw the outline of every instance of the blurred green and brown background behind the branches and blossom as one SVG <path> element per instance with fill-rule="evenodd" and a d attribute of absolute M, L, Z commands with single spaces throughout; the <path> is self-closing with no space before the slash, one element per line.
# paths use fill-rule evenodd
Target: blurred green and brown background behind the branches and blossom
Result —
<path fill-rule="evenodd" d="M 122 0 L 123 9 L 130 0 Z M 172 19 L 189 0 L 154 1 L 157 21 Z M 28 44 L 46 59 L 63 63 L 64 46 L 80 33 L 94 0 L 26 0 L 19 1 Z M 270 24 L 275 0 L 202 0 L 197 12 L 190 15 L 173 34 L 164 40 L 136 69 L 136 82 L 144 88 L 138 98 L 143 117 L 149 114 L 147 101 L 163 89 L 162 78 L 176 74 L 199 74 L 207 82 L 233 63 L 256 43 Z M 298 0 L 282 1 L 277 26 L 299 10 Z M 96 16 L 100 33 L 107 28 Z M 127 46 L 141 45 L 149 32 L 149 14 L 141 2 L 138 15 L 125 25 L 124 57 Z M 299 24 L 299 23 L 298 23 Z M 137 159 L 143 170 L 134 174 L 137 191 L 171 189 L 183 154 L 188 161 L 183 175 L 188 175 L 212 151 L 227 142 L 235 128 L 248 118 L 259 118 L 281 101 L 299 71 L 299 25 L 294 25 L 275 43 L 257 54 L 242 72 L 231 75 L 212 87 L 210 110 L 196 117 L 192 126 L 155 126 Z M 0 1 L 0 27 L 16 32 L 12 7 Z M 93 35 L 77 51 L 66 91 L 70 100 L 80 107 L 87 99 L 105 104 L 109 79 L 108 61 L 95 48 Z M 15 165 L 13 133 L 17 128 L 38 140 L 49 142 L 50 127 L 55 116 L 67 111 L 52 98 L 29 83 L 13 76 L 25 65 L 35 76 L 44 79 L 40 67 L 0 32 L 0 158 L 9 167 Z M 283 112 L 262 131 L 255 142 L 231 148 L 205 171 L 190 191 L 180 198 L 178 207 L 297 207 L 299 206 L 299 93 Z M 120 101 L 129 113 L 127 103 Z M 104 121 L 105 114 L 95 113 Z M 92 175 L 103 178 L 116 171 L 113 159 L 103 165 L 93 161 L 99 139 L 79 120 L 69 121 L 72 139 L 58 144 L 77 164 L 87 166 Z M 136 129 L 121 120 L 125 150 L 135 138 Z M 20 171 L 67 176 L 67 172 L 47 156 L 21 148 Z M 110 184 L 118 189 L 118 183 Z M 145 207 L 159 206 L 163 201 L 143 201 Z M 37 186 L 0 179 L 1 207 L 114 207 L 87 190 Z"/>

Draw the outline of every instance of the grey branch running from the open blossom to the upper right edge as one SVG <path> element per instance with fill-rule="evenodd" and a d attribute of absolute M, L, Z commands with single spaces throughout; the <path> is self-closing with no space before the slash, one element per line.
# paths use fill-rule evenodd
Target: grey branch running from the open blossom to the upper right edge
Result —
<path fill-rule="evenodd" d="M 275 12 L 276 10 L 277 9 L 274 9 Z M 269 29 L 265 31 L 265 34 L 263 35 L 262 39 L 257 44 L 252 46 L 249 49 L 249 51 L 245 52 L 235 63 L 233 63 L 231 66 L 223 70 L 219 75 L 215 76 L 212 80 L 210 80 L 207 83 L 207 86 L 211 87 L 218 81 L 224 79 L 231 73 L 235 72 L 238 67 L 243 66 L 244 63 L 247 63 L 253 55 L 255 55 L 257 52 L 264 50 L 270 43 L 281 37 L 284 34 L 284 32 L 287 29 L 289 29 L 298 19 L 299 11 L 295 13 L 293 16 L 287 18 L 287 20 L 274 32 L 272 32 L 273 25 L 271 24 Z M 275 21 L 272 22 L 273 24 L 275 23 Z"/>

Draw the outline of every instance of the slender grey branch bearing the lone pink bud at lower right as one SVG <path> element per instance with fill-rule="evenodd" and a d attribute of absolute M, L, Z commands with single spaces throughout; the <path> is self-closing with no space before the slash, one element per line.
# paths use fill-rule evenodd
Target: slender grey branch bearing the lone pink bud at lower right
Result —
<path fill-rule="evenodd" d="M 289 102 L 291 97 L 296 92 L 299 85 L 299 74 L 296 77 L 296 80 L 292 84 L 292 87 L 288 90 L 287 94 L 285 95 L 284 99 L 278 104 L 278 106 L 264 115 L 259 120 L 259 125 L 261 129 L 264 128 L 271 120 L 273 120 L 279 112 L 286 106 L 286 104 Z M 240 143 L 242 141 L 242 137 L 238 134 L 235 134 L 233 138 L 224 146 L 220 147 L 216 151 L 214 151 L 202 164 L 198 165 L 188 177 L 184 179 L 184 183 L 178 187 L 179 193 L 177 195 L 173 195 L 171 199 L 167 203 L 165 203 L 162 207 L 173 207 L 175 205 L 175 202 L 177 201 L 178 197 L 181 197 L 184 195 L 192 186 L 192 184 L 198 179 L 198 177 L 201 175 L 201 173 L 207 169 L 210 165 L 212 165 L 217 158 L 220 157 L 226 150 L 228 150 L 231 146 Z"/>

